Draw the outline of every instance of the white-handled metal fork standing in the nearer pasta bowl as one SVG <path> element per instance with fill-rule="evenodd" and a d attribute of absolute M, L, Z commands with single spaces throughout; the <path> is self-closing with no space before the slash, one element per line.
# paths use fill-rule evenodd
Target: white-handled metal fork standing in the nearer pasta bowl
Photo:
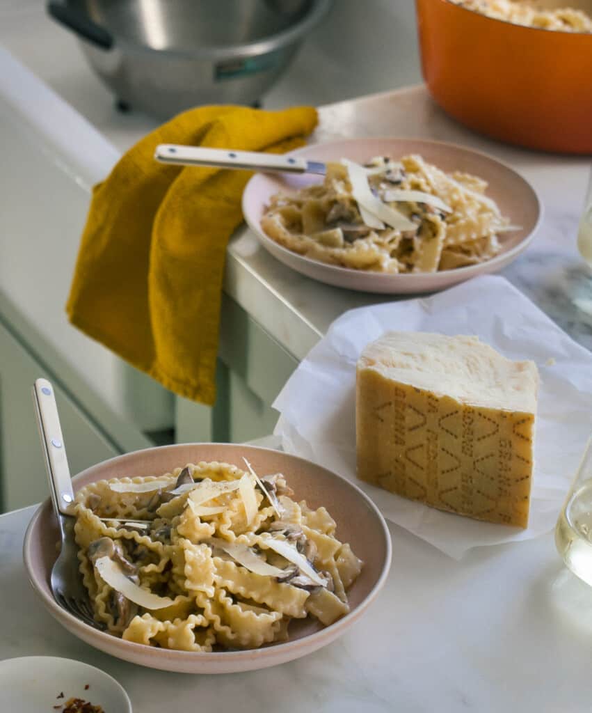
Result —
<path fill-rule="evenodd" d="M 70 468 L 63 443 L 58 406 L 53 395 L 53 386 L 47 379 L 37 379 L 33 385 L 33 401 L 36 406 L 37 424 L 45 455 L 49 490 L 53 512 L 56 513 L 61 533 L 61 550 L 51 570 L 51 591 L 56 602 L 95 629 L 104 627 L 95 622 L 81 571 L 79 570 L 78 545 L 74 540 L 75 518 L 71 513 L 74 501 Z"/>

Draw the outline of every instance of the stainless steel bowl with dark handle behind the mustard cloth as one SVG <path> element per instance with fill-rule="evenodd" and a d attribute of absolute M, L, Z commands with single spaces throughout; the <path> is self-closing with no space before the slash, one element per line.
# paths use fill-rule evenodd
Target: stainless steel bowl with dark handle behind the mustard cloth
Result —
<path fill-rule="evenodd" d="M 120 102 L 160 118 L 209 103 L 252 104 L 289 65 L 331 0 L 62 0 Z"/>

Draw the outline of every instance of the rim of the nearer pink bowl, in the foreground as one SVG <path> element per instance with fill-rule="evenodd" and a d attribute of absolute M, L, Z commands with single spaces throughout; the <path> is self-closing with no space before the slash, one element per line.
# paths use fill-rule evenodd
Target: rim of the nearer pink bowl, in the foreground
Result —
<path fill-rule="evenodd" d="M 289 651 L 297 650 L 301 647 L 312 646 L 313 648 L 311 650 L 320 648 L 321 646 L 323 646 L 324 639 L 328 639 L 325 643 L 330 643 L 331 641 L 335 640 L 341 634 L 342 630 L 347 629 L 351 624 L 353 624 L 353 622 L 355 622 L 355 620 L 357 620 L 358 617 L 360 617 L 360 615 L 365 612 L 368 606 L 370 606 L 370 604 L 378 596 L 378 593 L 385 585 L 386 579 L 388 578 L 388 575 L 390 573 L 390 565 L 392 563 L 393 558 L 393 544 L 385 518 L 383 517 L 382 513 L 380 513 L 380 510 L 375 505 L 373 500 L 369 496 L 367 496 L 357 485 L 355 485 L 355 483 L 352 483 L 352 481 L 348 480 L 348 478 L 344 478 L 338 473 L 330 471 L 328 468 L 325 468 L 324 466 L 321 466 L 318 463 L 313 463 L 313 461 L 309 461 L 307 458 L 296 456 L 293 453 L 279 451 L 276 448 L 266 448 L 264 446 L 250 446 L 246 443 L 172 443 L 167 446 L 140 448 L 137 451 L 130 451 L 130 453 L 123 453 L 120 456 L 113 456 L 113 458 L 108 458 L 105 461 L 95 463 L 93 466 L 85 468 L 85 470 L 81 471 L 80 473 L 77 473 L 76 476 L 73 476 L 72 483 L 74 486 L 74 491 L 76 493 L 77 481 L 80 481 L 82 478 L 84 478 L 84 476 L 88 475 L 89 471 L 93 471 L 93 469 L 97 468 L 98 466 L 105 466 L 108 463 L 116 463 L 117 461 L 125 461 L 125 459 L 133 458 L 133 456 L 136 456 L 138 453 L 147 453 L 165 449 L 175 450 L 175 448 L 185 448 L 187 446 L 234 446 L 237 449 L 248 448 L 251 452 L 271 451 L 275 454 L 281 454 L 288 458 L 296 459 L 300 463 L 313 465 L 315 468 L 321 468 L 321 470 L 326 471 L 326 473 L 329 473 L 331 477 L 338 478 L 340 481 L 343 481 L 346 486 L 352 488 L 353 491 L 355 491 L 356 495 L 361 498 L 365 502 L 365 505 L 370 509 L 370 511 L 373 512 L 375 520 L 380 527 L 380 532 L 383 535 L 383 543 L 385 547 L 385 558 L 380 569 L 380 574 L 378 575 L 378 579 L 373 584 L 368 595 L 366 595 L 366 597 L 353 610 L 348 612 L 345 616 L 341 617 L 341 619 L 338 619 L 336 622 L 333 622 L 333 624 L 323 627 L 321 630 L 303 636 L 300 639 L 296 639 L 293 641 L 288 640 L 286 642 L 259 647 L 256 649 L 244 649 L 237 651 L 194 652 L 175 649 L 160 649 L 146 644 L 138 644 L 137 642 L 126 641 L 124 639 L 121 639 L 120 637 L 115 637 L 113 634 L 100 631 L 91 627 L 88 624 L 85 624 L 85 622 L 83 622 L 81 619 L 78 619 L 78 617 L 75 617 L 70 612 L 63 609 L 63 607 L 58 605 L 56 600 L 53 599 L 53 597 L 51 596 L 51 593 L 46 592 L 46 586 L 43 586 L 46 585 L 46 583 L 43 582 L 42 585 L 39 585 L 39 582 L 42 581 L 43 578 L 39 576 L 39 574 L 33 568 L 33 563 L 31 561 L 31 545 L 33 542 L 33 532 L 34 530 L 36 530 L 36 524 L 39 518 L 41 518 L 41 513 L 45 509 L 49 509 L 51 511 L 51 498 L 48 497 L 42 503 L 39 504 L 38 508 L 33 513 L 33 517 L 27 525 L 22 550 L 23 561 L 29 583 L 31 583 L 31 586 L 33 590 L 35 590 L 35 593 L 38 595 L 38 597 L 41 597 L 41 601 L 43 602 L 43 605 L 45 605 L 46 609 L 52 615 L 55 615 L 55 617 L 60 623 L 62 623 L 61 617 L 65 617 L 66 621 L 70 622 L 71 625 L 73 625 L 74 630 L 77 630 L 78 627 L 83 627 L 82 630 L 84 632 L 92 634 L 93 638 L 98 637 L 98 640 L 101 642 L 105 642 L 105 645 L 107 646 L 115 642 L 125 646 L 126 649 L 130 647 L 130 650 L 137 651 L 138 655 L 150 655 L 151 658 L 157 658 L 160 653 L 165 652 L 167 660 L 172 660 L 173 662 L 187 661 L 187 657 L 191 656 L 192 658 L 195 657 L 195 662 L 199 661 L 209 664 L 222 662 L 224 662 L 224 664 L 226 665 L 233 663 L 239 664 L 247 660 L 256 660 L 257 662 L 260 661 L 263 663 L 267 660 L 280 658 L 282 654 L 285 655 Z"/>

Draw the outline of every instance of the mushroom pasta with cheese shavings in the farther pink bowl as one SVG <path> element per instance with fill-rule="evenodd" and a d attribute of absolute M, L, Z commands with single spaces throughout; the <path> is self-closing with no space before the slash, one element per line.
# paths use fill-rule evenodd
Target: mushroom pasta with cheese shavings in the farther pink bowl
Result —
<path fill-rule="evenodd" d="M 330 163 L 323 183 L 271 198 L 261 227 L 293 252 L 376 272 L 437 272 L 474 265 L 514 230 L 485 195 L 487 183 L 419 155 L 364 167 Z"/>

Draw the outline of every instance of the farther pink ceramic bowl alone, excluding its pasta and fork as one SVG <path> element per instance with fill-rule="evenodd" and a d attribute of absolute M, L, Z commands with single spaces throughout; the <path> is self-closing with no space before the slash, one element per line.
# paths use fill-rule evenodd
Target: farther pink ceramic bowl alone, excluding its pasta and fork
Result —
<path fill-rule="evenodd" d="M 396 159 L 410 153 L 422 155 L 429 163 L 447 172 L 462 171 L 487 180 L 489 198 L 497 202 L 502 214 L 507 215 L 514 225 L 521 226 L 520 230 L 507 232 L 499 237 L 502 250 L 498 255 L 491 260 L 480 262 L 479 265 L 468 265 L 455 270 L 442 270 L 442 272 L 417 272 L 405 275 L 352 270 L 349 267 L 329 265 L 320 260 L 298 255 L 265 234 L 261 229 L 261 217 L 269 205 L 269 199 L 275 193 L 290 193 L 305 185 L 322 182 L 322 177 L 311 174 L 258 173 L 254 175 L 243 193 L 244 219 L 259 238 L 261 245 L 284 265 L 320 282 L 361 292 L 383 294 L 435 292 L 476 275 L 497 272 L 526 250 L 541 223 L 542 207 L 539 197 L 534 188 L 519 173 L 487 154 L 441 141 L 414 138 L 353 138 L 311 144 L 292 151 L 290 155 L 325 163 L 338 161 L 341 158 L 364 163 L 373 156 L 388 155 Z"/>

